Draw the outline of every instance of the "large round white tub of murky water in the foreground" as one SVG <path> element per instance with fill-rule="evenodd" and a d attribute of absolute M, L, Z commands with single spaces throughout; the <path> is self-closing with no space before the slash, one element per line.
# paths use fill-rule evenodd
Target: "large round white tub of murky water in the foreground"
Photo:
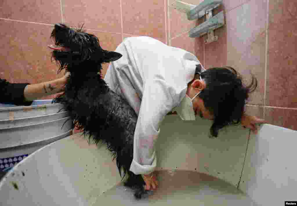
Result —
<path fill-rule="evenodd" d="M 8 205 L 284 205 L 296 200 L 297 131 L 241 126 L 209 139 L 211 121 L 166 116 L 157 140 L 158 190 L 136 201 L 105 145 L 81 133 L 21 161 L 0 183 Z"/>

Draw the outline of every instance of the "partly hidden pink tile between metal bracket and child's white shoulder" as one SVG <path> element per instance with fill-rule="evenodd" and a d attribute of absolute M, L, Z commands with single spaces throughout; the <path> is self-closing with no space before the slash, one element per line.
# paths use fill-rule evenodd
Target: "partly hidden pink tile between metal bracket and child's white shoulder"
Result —
<path fill-rule="evenodd" d="M 171 46 L 191 52 L 197 56 L 198 60 L 204 66 L 202 38 L 190 38 L 188 33 L 184 33 L 181 36 L 172 39 Z"/>

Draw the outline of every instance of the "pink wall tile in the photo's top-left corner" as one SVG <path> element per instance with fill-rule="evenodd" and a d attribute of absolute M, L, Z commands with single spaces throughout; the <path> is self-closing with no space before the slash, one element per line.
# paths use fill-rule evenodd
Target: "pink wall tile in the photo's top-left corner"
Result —
<path fill-rule="evenodd" d="M 53 24 L 61 21 L 60 0 L 2 0 L 0 17 Z"/>

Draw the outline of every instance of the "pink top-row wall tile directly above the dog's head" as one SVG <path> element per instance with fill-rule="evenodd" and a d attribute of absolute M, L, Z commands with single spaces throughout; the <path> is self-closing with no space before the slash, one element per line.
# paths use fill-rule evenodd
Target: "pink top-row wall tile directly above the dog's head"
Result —
<path fill-rule="evenodd" d="M 65 23 L 86 29 L 121 33 L 120 0 L 63 0 Z"/>

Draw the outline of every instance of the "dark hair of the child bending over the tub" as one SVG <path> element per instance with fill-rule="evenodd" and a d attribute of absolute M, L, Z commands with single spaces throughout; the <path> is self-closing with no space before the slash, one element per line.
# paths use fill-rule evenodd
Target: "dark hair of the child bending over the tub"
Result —
<path fill-rule="evenodd" d="M 198 95 L 204 106 L 214 115 L 211 126 L 211 135 L 218 136 L 218 130 L 227 126 L 238 124 L 244 114 L 244 105 L 249 93 L 257 88 L 257 79 L 252 75 L 252 82 L 246 86 L 242 77 L 232 67 L 214 67 L 204 72 L 197 67 L 195 78 L 206 82 L 206 88 Z"/>

